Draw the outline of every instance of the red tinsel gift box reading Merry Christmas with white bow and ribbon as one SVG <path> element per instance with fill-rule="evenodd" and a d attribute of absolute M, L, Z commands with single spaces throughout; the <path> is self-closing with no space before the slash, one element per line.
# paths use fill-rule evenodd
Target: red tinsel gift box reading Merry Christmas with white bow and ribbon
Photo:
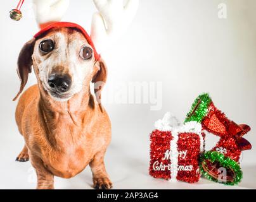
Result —
<path fill-rule="evenodd" d="M 155 123 L 150 135 L 150 175 L 170 181 L 198 182 L 202 126 L 196 121 L 179 124 L 169 112 Z"/>

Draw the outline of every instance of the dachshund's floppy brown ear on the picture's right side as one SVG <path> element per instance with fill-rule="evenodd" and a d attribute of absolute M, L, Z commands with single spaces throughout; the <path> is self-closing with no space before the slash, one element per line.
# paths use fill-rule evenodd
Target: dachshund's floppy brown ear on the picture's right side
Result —
<path fill-rule="evenodd" d="M 99 104 L 99 108 L 101 109 L 101 112 L 104 112 L 104 109 L 101 105 L 101 91 L 106 83 L 108 71 L 106 69 L 105 62 L 102 59 L 100 61 L 97 61 L 95 66 L 96 68 L 98 68 L 98 71 L 94 75 L 92 80 L 92 82 L 94 83 L 94 93 L 96 95 L 96 99 Z"/>

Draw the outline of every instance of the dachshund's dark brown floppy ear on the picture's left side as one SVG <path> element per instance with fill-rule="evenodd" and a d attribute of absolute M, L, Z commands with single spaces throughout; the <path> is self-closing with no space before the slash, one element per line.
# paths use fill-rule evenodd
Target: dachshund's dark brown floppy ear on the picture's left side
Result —
<path fill-rule="evenodd" d="M 17 73 L 21 82 L 20 91 L 18 92 L 16 97 L 13 98 L 13 101 L 15 101 L 19 97 L 20 93 L 22 93 L 23 88 L 25 87 L 27 80 L 29 78 L 29 73 L 31 73 L 32 54 L 34 51 L 34 45 L 35 39 L 33 38 L 22 47 L 22 50 L 20 50 L 17 68 Z"/>

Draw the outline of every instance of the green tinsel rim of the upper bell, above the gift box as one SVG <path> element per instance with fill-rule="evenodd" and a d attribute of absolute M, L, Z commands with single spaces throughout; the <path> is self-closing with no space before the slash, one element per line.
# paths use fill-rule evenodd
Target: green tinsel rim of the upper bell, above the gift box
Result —
<path fill-rule="evenodd" d="M 202 122 L 203 117 L 205 117 L 208 113 L 208 106 L 211 102 L 212 99 L 210 98 L 208 93 L 203 93 L 202 95 L 199 95 L 193 103 L 191 110 L 188 112 L 184 122 Z M 197 107 L 196 110 L 195 107 Z"/>

